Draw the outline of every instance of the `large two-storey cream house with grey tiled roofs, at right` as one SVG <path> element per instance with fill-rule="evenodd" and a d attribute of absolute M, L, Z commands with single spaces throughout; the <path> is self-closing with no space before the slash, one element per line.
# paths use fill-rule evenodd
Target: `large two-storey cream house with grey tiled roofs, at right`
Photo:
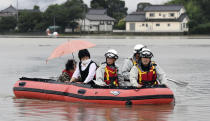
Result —
<path fill-rule="evenodd" d="M 181 5 L 148 5 L 125 21 L 126 32 L 188 32 L 189 18 Z"/>

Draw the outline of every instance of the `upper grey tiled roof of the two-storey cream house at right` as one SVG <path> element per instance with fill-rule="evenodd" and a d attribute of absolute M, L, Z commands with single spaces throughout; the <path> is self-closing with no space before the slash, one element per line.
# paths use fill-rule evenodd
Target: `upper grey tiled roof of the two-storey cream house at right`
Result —
<path fill-rule="evenodd" d="M 182 5 L 149 5 L 144 8 L 145 12 L 148 11 L 179 11 L 184 8 Z"/>

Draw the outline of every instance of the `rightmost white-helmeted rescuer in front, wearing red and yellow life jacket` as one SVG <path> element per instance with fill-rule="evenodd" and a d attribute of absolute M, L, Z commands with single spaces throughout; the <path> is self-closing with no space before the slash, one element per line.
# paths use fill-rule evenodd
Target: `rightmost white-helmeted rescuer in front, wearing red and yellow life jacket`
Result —
<path fill-rule="evenodd" d="M 132 86 L 153 86 L 166 82 L 166 74 L 154 61 L 152 52 L 143 48 L 140 52 L 140 60 L 138 64 L 132 67 L 130 71 L 130 82 Z"/>

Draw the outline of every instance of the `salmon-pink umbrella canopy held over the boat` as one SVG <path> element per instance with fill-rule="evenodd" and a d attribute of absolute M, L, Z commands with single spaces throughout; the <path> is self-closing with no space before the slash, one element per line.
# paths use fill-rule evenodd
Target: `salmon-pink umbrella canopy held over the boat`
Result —
<path fill-rule="evenodd" d="M 47 61 L 53 58 L 57 58 L 66 54 L 71 54 L 78 50 L 90 48 L 96 46 L 95 44 L 84 40 L 71 40 L 59 45 L 47 58 Z"/>

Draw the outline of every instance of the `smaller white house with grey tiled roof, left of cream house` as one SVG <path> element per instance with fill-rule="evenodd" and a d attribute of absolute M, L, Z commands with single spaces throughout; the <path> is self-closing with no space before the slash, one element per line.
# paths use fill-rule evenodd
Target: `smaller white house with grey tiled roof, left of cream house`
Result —
<path fill-rule="evenodd" d="M 83 20 L 80 20 L 81 31 L 108 32 L 113 30 L 115 19 L 107 15 L 105 9 L 89 9 Z"/>

